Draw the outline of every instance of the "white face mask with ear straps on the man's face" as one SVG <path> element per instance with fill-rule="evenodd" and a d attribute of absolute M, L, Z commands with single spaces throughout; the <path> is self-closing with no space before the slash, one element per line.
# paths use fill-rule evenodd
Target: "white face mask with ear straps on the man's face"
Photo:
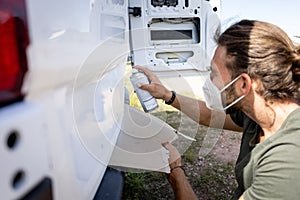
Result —
<path fill-rule="evenodd" d="M 231 104 L 227 105 L 226 107 L 224 107 L 222 101 L 222 92 L 224 92 L 229 86 L 231 86 L 240 77 L 241 75 L 233 79 L 230 83 L 225 85 L 221 90 L 219 90 L 217 86 L 215 86 L 215 84 L 211 81 L 210 77 L 208 77 L 208 79 L 206 79 L 202 88 L 206 107 L 208 107 L 211 110 L 224 112 L 226 109 L 230 108 L 231 106 L 239 102 L 242 98 L 244 98 L 245 95 L 242 95 L 241 97 L 237 98 L 235 101 L 233 101 Z"/>

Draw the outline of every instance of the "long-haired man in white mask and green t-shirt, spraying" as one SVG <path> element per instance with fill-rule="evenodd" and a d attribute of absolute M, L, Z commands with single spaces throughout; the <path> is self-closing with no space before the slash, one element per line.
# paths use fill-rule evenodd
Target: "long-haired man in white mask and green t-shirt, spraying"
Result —
<path fill-rule="evenodd" d="M 239 184 L 232 199 L 296 199 L 300 195 L 300 47 L 280 28 L 265 22 L 240 21 L 218 39 L 206 104 L 168 91 L 151 72 L 141 86 L 175 108 L 188 105 L 188 116 L 209 125 L 211 111 L 225 110 L 225 129 L 243 130 L 235 173 Z M 225 86 L 223 86 L 225 85 Z M 175 95 L 175 98 L 174 98 Z M 217 97 L 212 99 L 211 97 Z M 207 106 L 206 106 L 207 105 Z M 200 108 L 200 119 L 193 114 Z M 298 122 L 296 122 L 298 120 Z M 165 144 L 171 155 L 176 149 Z M 181 170 L 170 164 L 176 198 L 195 198 Z M 181 182 L 185 184 L 181 185 Z M 176 191 L 177 190 L 177 191 Z M 185 192 L 179 192 L 185 190 Z"/>

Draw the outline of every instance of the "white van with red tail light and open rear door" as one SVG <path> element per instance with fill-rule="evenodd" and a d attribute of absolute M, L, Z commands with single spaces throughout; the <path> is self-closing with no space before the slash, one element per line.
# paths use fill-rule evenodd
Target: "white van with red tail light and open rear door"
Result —
<path fill-rule="evenodd" d="M 219 10 L 217 0 L 0 0 L 1 199 L 119 199 L 123 173 L 110 165 L 153 169 L 113 157 L 120 124 L 134 129 L 128 56 L 166 80 L 208 72 Z"/>

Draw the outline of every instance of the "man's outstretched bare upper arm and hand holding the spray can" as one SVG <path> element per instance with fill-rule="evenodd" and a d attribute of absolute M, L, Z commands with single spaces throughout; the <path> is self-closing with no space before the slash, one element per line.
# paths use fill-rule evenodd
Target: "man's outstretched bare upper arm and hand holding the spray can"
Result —
<path fill-rule="evenodd" d="M 172 97 L 172 92 L 168 90 L 158 79 L 158 77 L 145 67 L 135 66 L 136 69 L 143 71 L 150 79 L 149 85 L 141 85 L 140 88 L 149 91 L 155 98 L 169 101 Z M 171 104 L 174 108 L 177 108 L 192 120 L 198 122 L 201 125 L 210 126 L 214 128 L 224 128 L 232 131 L 242 131 L 241 127 L 237 126 L 229 115 L 225 116 L 225 113 L 212 111 L 206 107 L 204 101 L 193 99 L 190 97 L 176 94 L 176 98 Z M 223 127 L 220 127 L 218 123 L 211 123 L 219 121 L 218 118 L 225 118 Z"/>

